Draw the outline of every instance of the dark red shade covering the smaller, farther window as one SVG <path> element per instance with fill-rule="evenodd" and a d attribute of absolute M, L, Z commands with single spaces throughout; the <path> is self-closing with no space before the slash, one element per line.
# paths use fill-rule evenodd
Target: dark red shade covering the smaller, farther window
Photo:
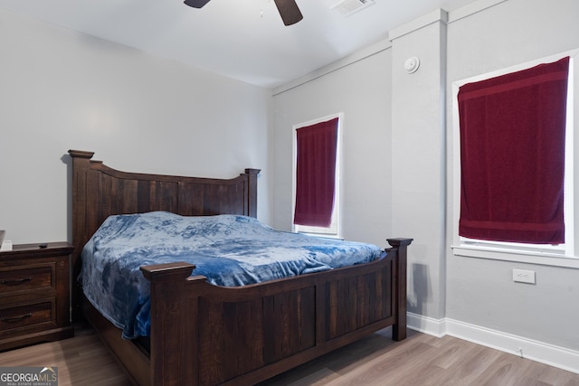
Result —
<path fill-rule="evenodd" d="M 297 129 L 294 224 L 328 227 L 336 187 L 337 120 Z"/>

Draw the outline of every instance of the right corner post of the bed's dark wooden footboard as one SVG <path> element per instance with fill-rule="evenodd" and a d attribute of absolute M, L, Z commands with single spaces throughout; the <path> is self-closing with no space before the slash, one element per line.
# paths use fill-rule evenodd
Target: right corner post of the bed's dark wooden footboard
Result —
<path fill-rule="evenodd" d="M 412 241 L 413 239 L 388 239 L 388 244 L 398 249 L 394 261 L 396 323 L 392 326 L 392 338 L 397 342 L 406 338 L 406 253 Z"/>

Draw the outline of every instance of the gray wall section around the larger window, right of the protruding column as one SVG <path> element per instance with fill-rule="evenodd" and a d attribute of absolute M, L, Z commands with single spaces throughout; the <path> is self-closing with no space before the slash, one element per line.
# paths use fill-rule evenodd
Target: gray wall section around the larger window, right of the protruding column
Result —
<path fill-rule="evenodd" d="M 451 20 L 447 87 L 455 80 L 579 48 L 578 20 L 579 2 L 575 0 L 508 0 Z M 448 106 L 450 109 L 450 99 Z M 574 110 L 576 126 L 576 103 Z M 452 148 L 451 123 L 449 119 L 449 156 L 458 151 Z M 575 149 L 575 159 L 577 155 Z M 576 161 L 574 165 L 576 169 Z M 448 175 L 451 192 L 451 169 Z M 449 230 L 456 216 L 451 198 L 449 195 Z M 451 245 L 451 231 L 447 242 Z M 447 264 L 447 317 L 579 350 L 578 269 L 460 258 L 454 257 L 451 249 L 447 250 Z M 512 268 L 536 271 L 536 285 L 514 283 Z"/>

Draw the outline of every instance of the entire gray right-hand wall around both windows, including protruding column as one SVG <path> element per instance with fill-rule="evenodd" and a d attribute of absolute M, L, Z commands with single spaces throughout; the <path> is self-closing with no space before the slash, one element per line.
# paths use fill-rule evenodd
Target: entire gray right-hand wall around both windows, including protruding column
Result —
<path fill-rule="evenodd" d="M 575 0 L 479 0 L 426 14 L 391 31 L 375 55 L 280 88 L 271 138 L 274 225 L 290 228 L 291 126 L 343 110 L 345 237 L 379 245 L 413 237 L 410 325 L 511 353 L 518 344 L 538 346 L 548 353 L 534 359 L 579 372 L 579 269 L 455 257 L 451 249 L 452 82 L 579 48 L 577 20 Z M 403 68 L 410 56 L 421 59 L 413 74 Z M 579 117 L 577 103 L 574 110 Z M 536 285 L 514 283 L 512 268 L 535 270 Z"/>

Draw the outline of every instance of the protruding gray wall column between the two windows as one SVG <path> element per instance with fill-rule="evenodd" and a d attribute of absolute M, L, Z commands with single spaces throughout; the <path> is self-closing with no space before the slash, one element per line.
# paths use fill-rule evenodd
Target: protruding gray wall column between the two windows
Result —
<path fill-rule="evenodd" d="M 444 80 L 446 13 L 391 31 L 393 50 L 393 231 L 412 237 L 408 310 L 440 319 L 445 307 Z M 421 61 L 408 73 L 408 58 Z"/>

